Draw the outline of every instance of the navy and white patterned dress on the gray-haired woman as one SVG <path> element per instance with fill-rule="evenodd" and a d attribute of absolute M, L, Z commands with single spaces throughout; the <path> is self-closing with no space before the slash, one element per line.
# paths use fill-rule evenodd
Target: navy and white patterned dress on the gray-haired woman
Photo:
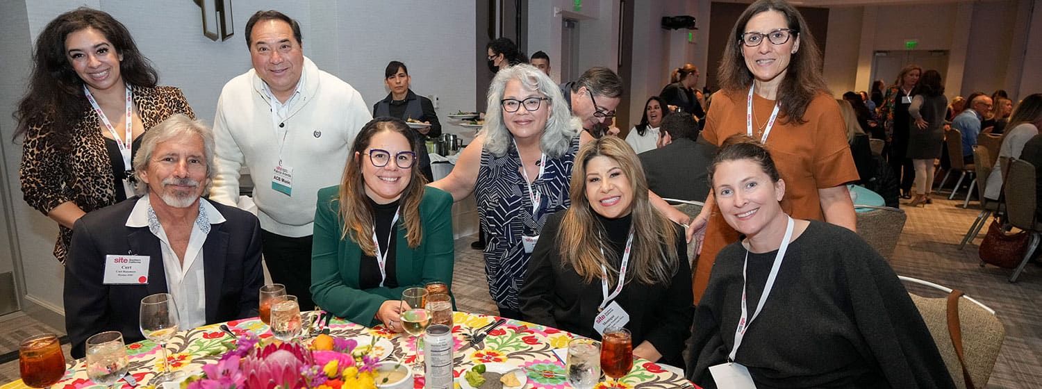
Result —
<path fill-rule="evenodd" d="M 489 294 L 497 306 L 520 310 L 518 291 L 531 258 L 524 252 L 521 237 L 539 235 L 547 215 L 571 204 L 569 187 L 578 148 L 579 137 L 576 136 L 564 155 L 546 159 L 543 174 L 531 184 L 541 197 L 536 215 L 531 212 L 531 197 L 520 172 L 521 159 L 513 142 L 502 156 L 481 150 L 474 196 L 487 240 L 485 274 Z"/>

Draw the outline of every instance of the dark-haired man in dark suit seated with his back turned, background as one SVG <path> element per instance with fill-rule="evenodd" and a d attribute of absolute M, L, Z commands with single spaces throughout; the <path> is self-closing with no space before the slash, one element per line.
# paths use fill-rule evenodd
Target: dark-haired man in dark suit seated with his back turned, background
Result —
<path fill-rule="evenodd" d="M 673 113 L 662 120 L 659 148 L 638 155 L 652 192 L 663 198 L 705 201 L 716 147 L 697 142 L 698 132 L 691 114 Z"/>

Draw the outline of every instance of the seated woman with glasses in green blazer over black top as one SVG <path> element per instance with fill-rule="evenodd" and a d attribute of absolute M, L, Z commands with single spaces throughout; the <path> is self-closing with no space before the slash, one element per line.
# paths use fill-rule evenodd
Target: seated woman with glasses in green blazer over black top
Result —
<path fill-rule="evenodd" d="M 452 282 L 452 196 L 425 188 L 408 131 L 391 118 L 362 128 L 343 183 L 318 193 L 312 250 L 316 303 L 396 332 L 403 290 Z"/>

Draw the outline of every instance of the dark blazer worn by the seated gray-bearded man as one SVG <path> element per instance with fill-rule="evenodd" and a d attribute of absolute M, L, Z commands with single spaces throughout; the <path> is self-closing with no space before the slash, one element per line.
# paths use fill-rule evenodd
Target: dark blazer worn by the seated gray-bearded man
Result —
<path fill-rule="evenodd" d="M 159 239 L 148 227 L 125 225 L 139 198 L 86 214 L 73 226 L 64 292 L 73 358 L 82 358 L 86 338 L 101 332 L 119 331 L 127 343 L 144 339 L 139 326 L 141 299 L 167 292 Z M 202 246 L 206 323 L 256 316 L 257 291 L 264 285 L 260 223 L 246 211 L 210 204 L 225 222 L 212 224 Z M 148 284 L 102 284 L 106 254 L 148 256 Z"/>

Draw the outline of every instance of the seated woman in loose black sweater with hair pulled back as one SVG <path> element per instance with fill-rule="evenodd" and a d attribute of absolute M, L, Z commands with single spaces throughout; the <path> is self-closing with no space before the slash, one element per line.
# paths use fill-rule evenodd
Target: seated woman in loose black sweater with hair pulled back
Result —
<path fill-rule="evenodd" d="M 853 232 L 783 210 L 788 185 L 767 149 L 728 139 L 710 179 L 745 238 L 716 259 L 695 313 L 690 380 L 716 388 L 736 372 L 761 388 L 954 387 L 886 260 Z"/>

